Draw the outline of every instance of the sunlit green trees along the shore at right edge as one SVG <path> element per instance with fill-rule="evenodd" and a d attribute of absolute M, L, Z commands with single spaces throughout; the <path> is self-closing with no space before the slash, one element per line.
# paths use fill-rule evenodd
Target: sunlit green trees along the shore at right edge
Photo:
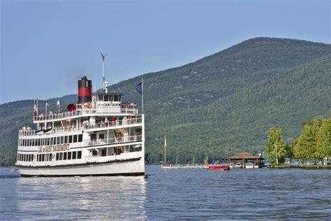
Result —
<path fill-rule="evenodd" d="M 267 135 L 265 152 L 270 167 L 331 169 L 331 110 L 326 118 L 316 116 L 302 122 L 300 136 L 286 144 L 281 128 L 271 127 Z"/>

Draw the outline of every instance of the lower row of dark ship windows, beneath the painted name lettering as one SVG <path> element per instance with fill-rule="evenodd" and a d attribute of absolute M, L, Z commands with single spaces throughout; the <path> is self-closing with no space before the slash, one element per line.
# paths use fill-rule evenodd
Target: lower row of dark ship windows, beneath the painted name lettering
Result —
<path fill-rule="evenodd" d="M 72 152 L 57 152 L 56 160 L 67 160 L 67 159 L 82 159 L 82 151 L 72 151 Z M 18 161 L 33 162 L 34 155 L 31 154 L 17 154 Z M 37 162 L 52 161 L 51 153 L 43 153 L 36 155 Z"/>

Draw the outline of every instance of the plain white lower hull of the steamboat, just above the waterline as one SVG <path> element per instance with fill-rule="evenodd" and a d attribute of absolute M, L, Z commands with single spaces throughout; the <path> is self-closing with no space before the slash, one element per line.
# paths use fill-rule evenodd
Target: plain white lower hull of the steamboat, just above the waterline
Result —
<path fill-rule="evenodd" d="M 143 158 L 124 162 L 104 162 L 66 166 L 18 167 L 21 176 L 143 176 Z"/>

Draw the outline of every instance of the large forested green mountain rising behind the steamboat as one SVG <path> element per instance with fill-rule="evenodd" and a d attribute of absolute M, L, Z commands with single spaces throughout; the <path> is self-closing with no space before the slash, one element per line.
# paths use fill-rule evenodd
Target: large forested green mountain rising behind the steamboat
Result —
<path fill-rule="evenodd" d="M 286 138 L 295 137 L 302 120 L 328 112 L 330 49 L 331 45 L 309 41 L 252 38 L 196 62 L 111 88 L 123 92 L 124 101 L 140 101 L 134 88 L 144 78 L 149 162 L 162 160 L 164 134 L 170 161 L 176 155 L 180 162 L 188 162 L 193 155 L 202 160 L 241 150 L 257 153 L 271 125 L 283 128 Z M 71 95 L 63 103 L 71 99 L 76 97 Z M 17 129 L 31 124 L 32 105 L 33 101 L 0 105 L 3 162 L 15 158 Z"/>

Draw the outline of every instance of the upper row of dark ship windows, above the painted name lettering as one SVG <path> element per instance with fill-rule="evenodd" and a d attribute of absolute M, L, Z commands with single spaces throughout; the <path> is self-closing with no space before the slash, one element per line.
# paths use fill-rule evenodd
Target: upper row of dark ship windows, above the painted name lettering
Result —
<path fill-rule="evenodd" d="M 69 135 L 69 136 L 57 136 L 50 138 L 33 138 L 33 139 L 19 139 L 18 145 L 29 147 L 38 145 L 57 145 L 64 143 L 77 143 L 82 142 L 82 134 Z"/>

